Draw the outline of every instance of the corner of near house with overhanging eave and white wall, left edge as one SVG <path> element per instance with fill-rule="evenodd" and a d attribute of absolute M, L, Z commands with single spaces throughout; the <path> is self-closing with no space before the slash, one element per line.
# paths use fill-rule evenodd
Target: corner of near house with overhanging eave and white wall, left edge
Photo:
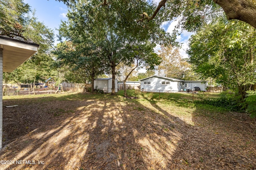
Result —
<path fill-rule="evenodd" d="M 3 127 L 3 72 L 12 72 L 20 64 L 34 55 L 38 47 L 39 45 L 35 43 L 0 36 L 0 149 L 2 148 Z"/>

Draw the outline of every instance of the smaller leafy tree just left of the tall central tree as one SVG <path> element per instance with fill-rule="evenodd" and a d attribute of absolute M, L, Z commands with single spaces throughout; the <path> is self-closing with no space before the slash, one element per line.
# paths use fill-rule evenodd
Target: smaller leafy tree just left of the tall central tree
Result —
<path fill-rule="evenodd" d="M 68 69 L 75 73 L 73 74 L 75 76 L 73 77 L 75 82 L 81 79 L 84 83 L 91 81 L 91 92 L 94 92 L 94 79 L 96 76 L 102 74 L 106 68 L 96 51 L 90 45 L 90 42 L 81 40 L 76 45 L 71 41 L 59 43 L 53 53 L 57 56 L 58 63 L 62 66 L 68 66 Z"/>

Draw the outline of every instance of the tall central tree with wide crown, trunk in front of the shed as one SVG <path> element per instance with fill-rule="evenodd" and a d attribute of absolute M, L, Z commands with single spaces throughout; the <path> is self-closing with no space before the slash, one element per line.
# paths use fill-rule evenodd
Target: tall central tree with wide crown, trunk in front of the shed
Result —
<path fill-rule="evenodd" d="M 60 36 L 73 43 L 79 39 L 76 35 L 82 37 L 84 42 L 92 40 L 90 46 L 97 47 L 98 55 L 111 69 L 114 94 L 116 66 L 121 62 L 134 62 L 131 59 L 134 56 L 128 55 L 134 44 L 146 41 L 170 42 L 168 33 L 160 28 L 160 18 L 150 23 L 137 24 L 138 14 L 142 10 L 152 11 L 153 8 L 147 2 L 136 0 L 112 1 L 111 4 L 100 0 L 79 1 L 75 4 L 70 2 L 70 12 L 67 14 L 69 21 L 62 23 Z"/>

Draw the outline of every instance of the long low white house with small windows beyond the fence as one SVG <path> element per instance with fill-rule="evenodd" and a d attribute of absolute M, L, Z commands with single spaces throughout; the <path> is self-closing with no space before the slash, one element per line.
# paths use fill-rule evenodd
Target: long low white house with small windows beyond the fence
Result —
<path fill-rule="evenodd" d="M 199 87 L 201 91 L 205 91 L 207 82 L 203 81 L 186 81 L 176 78 L 164 76 L 150 76 L 140 80 L 140 90 L 147 92 L 180 92 L 192 90 L 194 87 Z"/>

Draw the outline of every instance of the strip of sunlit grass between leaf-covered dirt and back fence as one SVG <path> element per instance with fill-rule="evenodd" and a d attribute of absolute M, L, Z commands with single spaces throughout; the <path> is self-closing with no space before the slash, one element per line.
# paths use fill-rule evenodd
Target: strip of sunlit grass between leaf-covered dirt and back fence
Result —
<path fill-rule="evenodd" d="M 203 98 L 218 99 L 219 94 L 212 93 L 153 93 L 153 92 L 140 92 L 139 90 L 128 90 L 130 96 L 137 96 L 138 98 L 129 99 L 124 98 L 124 91 L 120 90 L 117 95 L 110 94 L 90 94 L 90 93 L 70 93 L 70 94 L 42 94 L 42 95 L 26 95 L 26 96 L 4 96 L 4 100 L 8 105 L 24 105 L 24 104 L 38 104 L 44 102 L 54 101 L 108 101 L 114 104 L 116 102 L 123 102 L 125 105 L 132 105 L 129 110 L 137 110 L 139 112 L 154 112 L 171 119 L 178 117 L 186 123 L 193 125 L 194 115 L 204 115 L 208 117 L 215 117 L 216 114 L 226 112 L 224 107 L 212 106 L 208 104 L 201 104 Z M 63 113 L 74 113 L 75 111 L 58 109 L 51 112 L 54 116 L 60 116 Z"/>

